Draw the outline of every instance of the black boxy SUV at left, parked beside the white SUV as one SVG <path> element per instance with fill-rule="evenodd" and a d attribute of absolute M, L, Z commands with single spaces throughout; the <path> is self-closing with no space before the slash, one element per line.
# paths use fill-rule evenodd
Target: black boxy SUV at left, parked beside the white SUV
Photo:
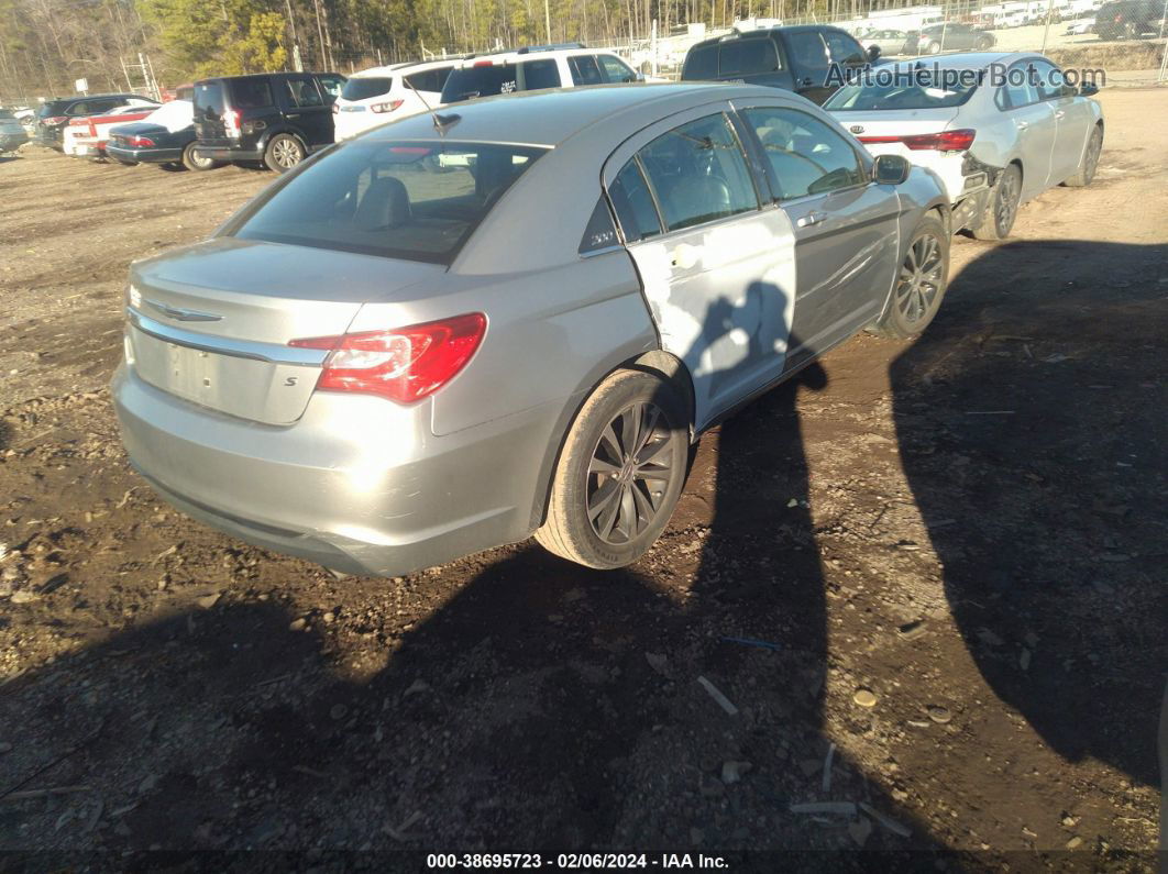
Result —
<path fill-rule="evenodd" d="M 265 72 L 195 83 L 199 154 L 211 161 L 263 161 L 278 173 L 333 141 L 335 72 Z"/>

